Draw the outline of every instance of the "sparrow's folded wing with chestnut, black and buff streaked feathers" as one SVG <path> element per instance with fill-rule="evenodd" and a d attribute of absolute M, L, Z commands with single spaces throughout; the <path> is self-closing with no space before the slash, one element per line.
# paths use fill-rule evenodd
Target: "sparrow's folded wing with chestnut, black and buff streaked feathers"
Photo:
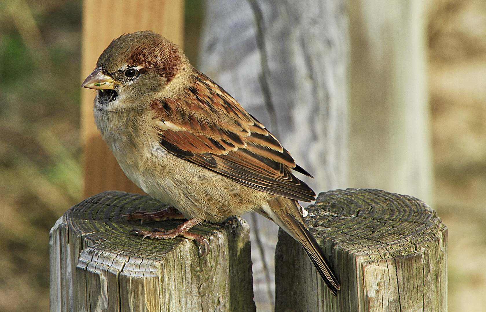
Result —
<path fill-rule="evenodd" d="M 291 169 L 312 176 L 223 88 L 199 74 L 184 97 L 152 103 L 160 145 L 243 185 L 296 200 L 314 200 L 315 193 Z"/>

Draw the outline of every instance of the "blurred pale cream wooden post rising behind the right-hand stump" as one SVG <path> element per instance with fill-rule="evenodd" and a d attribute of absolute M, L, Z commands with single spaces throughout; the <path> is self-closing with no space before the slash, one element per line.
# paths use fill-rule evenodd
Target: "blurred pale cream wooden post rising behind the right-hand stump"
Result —
<path fill-rule="evenodd" d="M 348 1 L 349 186 L 434 203 L 427 1 Z"/>

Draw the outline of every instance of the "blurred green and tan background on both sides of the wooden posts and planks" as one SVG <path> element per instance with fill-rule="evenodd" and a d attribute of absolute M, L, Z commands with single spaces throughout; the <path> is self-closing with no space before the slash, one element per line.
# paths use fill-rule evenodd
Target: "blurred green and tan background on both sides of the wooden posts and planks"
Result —
<path fill-rule="evenodd" d="M 486 2 L 429 0 L 434 208 L 449 311 L 486 311 Z M 186 0 L 198 66 L 204 5 Z M 49 230 L 82 194 L 80 0 L 0 1 L 0 311 L 49 310 Z"/>

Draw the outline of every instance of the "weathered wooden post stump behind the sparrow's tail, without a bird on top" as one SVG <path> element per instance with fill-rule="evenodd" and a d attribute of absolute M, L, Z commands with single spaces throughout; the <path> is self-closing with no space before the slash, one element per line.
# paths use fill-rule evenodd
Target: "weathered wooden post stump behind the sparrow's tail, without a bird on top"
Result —
<path fill-rule="evenodd" d="M 341 282 L 334 297 L 280 230 L 276 312 L 447 311 L 447 228 L 423 201 L 374 189 L 319 194 L 305 218 Z"/>

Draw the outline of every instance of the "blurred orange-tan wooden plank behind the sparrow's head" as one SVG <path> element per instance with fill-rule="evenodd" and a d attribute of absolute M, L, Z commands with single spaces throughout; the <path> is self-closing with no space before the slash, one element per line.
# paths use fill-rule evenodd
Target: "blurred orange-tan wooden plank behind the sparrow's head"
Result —
<path fill-rule="evenodd" d="M 84 0 L 81 81 L 96 66 L 109 43 L 123 33 L 152 30 L 180 47 L 184 42 L 183 0 Z M 80 82 L 81 84 L 81 82 Z M 96 129 L 92 112 L 96 92 L 81 91 L 81 139 L 84 147 L 83 198 L 106 191 L 142 193 L 121 171 Z"/>

